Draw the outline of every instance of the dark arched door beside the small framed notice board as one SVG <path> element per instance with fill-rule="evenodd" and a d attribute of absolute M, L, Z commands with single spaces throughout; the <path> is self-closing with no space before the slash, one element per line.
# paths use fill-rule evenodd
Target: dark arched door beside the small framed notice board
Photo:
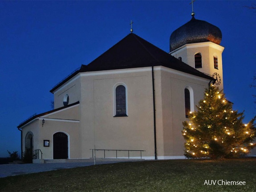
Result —
<path fill-rule="evenodd" d="M 63 132 L 53 135 L 53 159 L 68 159 L 68 136 Z"/>

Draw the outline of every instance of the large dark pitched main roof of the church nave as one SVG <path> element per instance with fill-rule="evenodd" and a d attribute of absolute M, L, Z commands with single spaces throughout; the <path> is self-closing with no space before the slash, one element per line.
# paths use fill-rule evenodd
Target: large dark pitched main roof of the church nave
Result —
<path fill-rule="evenodd" d="M 210 76 L 199 72 L 188 64 L 176 59 L 162 49 L 154 46 L 141 37 L 130 33 L 117 44 L 104 52 L 101 56 L 93 60 L 88 65 L 81 68 L 57 84 L 50 92 L 59 88 L 79 72 L 106 71 L 126 68 L 142 68 L 151 66 L 164 66 L 181 72 L 186 72 L 195 76 L 200 76 L 211 80 Z"/>

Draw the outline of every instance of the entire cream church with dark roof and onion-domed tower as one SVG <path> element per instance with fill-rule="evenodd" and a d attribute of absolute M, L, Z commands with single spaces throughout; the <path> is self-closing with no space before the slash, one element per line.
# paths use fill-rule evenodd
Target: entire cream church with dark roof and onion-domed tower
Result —
<path fill-rule="evenodd" d="M 182 122 L 205 88 L 223 89 L 221 39 L 193 14 L 171 33 L 169 53 L 131 29 L 50 90 L 54 109 L 18 126 L 22 151 L 42 159 L 185 158 Z"/>

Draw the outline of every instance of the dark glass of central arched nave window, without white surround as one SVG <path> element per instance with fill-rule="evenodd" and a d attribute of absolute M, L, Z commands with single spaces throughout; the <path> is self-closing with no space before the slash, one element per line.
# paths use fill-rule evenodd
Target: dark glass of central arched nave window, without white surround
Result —
<path fill-rule="evenodd" d="M 116 116 L 126 116 L 126 88 L 123 85 L 116 88 Z"/>

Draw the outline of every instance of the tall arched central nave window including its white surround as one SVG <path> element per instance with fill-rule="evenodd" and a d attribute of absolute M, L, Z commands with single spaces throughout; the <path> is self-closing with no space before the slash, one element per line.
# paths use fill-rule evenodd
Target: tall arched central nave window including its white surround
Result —
<path fill-rule="evenodd" d="M 122 84 L 117 84 L 114 92 L 114 116 L 127 116 L 126 87 Z"/>

